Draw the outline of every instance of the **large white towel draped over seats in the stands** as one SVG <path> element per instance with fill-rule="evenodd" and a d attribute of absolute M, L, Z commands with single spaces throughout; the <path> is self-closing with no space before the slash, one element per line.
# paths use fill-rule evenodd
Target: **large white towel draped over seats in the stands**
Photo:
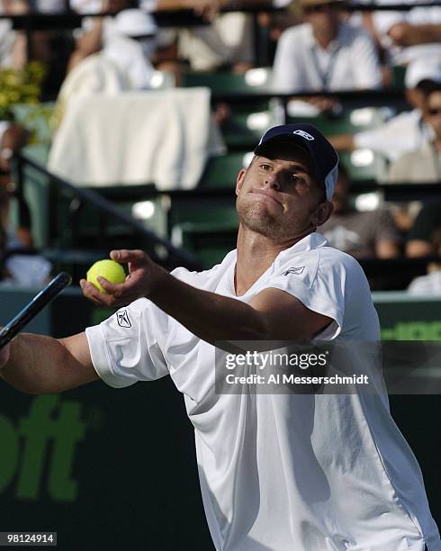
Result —
<path fill-rule="evenodd" d="M 223 152 L 208 88 L 96 94 L 66 105 L 48 168 L 76 185 L 191 189 Z"/>

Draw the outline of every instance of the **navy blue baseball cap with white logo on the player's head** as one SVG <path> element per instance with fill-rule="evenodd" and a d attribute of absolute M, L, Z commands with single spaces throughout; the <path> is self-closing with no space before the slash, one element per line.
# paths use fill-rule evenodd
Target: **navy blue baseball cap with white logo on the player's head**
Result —
<path fill-rule="evenodd" d="M 312 124 L 273 126 L 260 139 L 255 154 L 265 155 L 268 143 L 276 140 L 293 140 L 310 154 L 316 177 L 325 186 L 326 198 L 330 201 L 338 177 L 338 154 L 323 134 Z"/>

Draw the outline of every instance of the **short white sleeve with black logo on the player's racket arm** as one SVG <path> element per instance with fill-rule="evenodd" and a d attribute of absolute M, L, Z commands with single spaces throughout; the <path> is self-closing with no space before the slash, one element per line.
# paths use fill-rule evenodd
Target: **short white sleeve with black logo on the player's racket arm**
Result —
<path fill-rule="evenodd" d="M 85 335 L 96 373 L 122 388 L 168 375 L 163 354 L 170 318 L 147 299 L 115 312 Z"/>

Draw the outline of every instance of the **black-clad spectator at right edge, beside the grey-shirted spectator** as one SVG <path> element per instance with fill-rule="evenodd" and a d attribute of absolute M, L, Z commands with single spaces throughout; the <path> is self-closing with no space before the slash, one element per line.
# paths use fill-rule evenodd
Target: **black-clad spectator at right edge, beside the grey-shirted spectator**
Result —
<path fill-rule="evenodd" d="M 434 246 L 432 239 L 434 233 L 440 230 L 441 201 L 425 204 L 409 232 L 406 256 L 415 258 L 441 255 L 441 250 Z"/>

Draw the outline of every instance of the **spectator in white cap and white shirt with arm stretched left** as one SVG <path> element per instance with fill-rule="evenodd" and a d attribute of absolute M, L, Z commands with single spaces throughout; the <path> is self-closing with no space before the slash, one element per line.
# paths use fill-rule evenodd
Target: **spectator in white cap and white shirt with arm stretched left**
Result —
<path fill-rule="evenodd" d="M 405 77 L 406 98 L 412 111 L 400 113 L 372 130 L 332 136 L 330 142 L 340 151 L 373 149 L 390 161 L 419 149 L 433 135 L 423 117 L 426 89 L 432 83 L 441 83 L 441 58 L 413 61 Z"/>

